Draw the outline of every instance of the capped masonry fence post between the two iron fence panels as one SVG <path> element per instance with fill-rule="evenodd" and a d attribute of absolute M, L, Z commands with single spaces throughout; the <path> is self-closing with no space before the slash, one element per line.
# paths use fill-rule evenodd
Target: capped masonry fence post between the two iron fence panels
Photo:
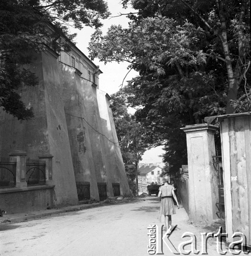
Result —
<path fill-rule="evenodd" d="M 26 156 L 27 153 L 24 151 L 13 151 L 9 153 L 10 157 L 16 159 L 16 187 L 23 188 L 27 187 L 26 182 Z"/>

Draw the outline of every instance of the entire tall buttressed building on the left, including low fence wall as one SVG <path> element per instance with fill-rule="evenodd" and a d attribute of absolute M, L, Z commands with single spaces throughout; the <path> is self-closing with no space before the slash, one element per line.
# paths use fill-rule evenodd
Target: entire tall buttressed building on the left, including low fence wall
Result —
<path fill-rule="evenodd" d="M 18 212 L 129 195 L 110 96 L 99 90 L 102 71 L 74 45 L 68 53 L 48 48 L 34 54 L 29 69 L 39 82 L 21 87 L 19 94 L 34 118 L 17 120 L 0 111 L 0 157 L 17 158 L 21 151 L 24 159 L 15 186 L 3 188 L 0 182 L 1 208 Z M 50 186 L 29 186 L 28 162 L 46 155 L 52 164 Z M 0 162 L 0 181 L 8 172 L 3 168 Z"/>

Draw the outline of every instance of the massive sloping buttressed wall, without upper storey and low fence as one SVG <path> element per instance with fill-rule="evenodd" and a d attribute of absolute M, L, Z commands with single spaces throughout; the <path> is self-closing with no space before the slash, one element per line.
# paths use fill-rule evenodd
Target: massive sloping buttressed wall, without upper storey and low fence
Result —
<path fill-rule="evenodd" d="M 102 73 L 89 62 L 91 74 Z M 26 151 L 28 158 L 53 155 L 54 206 L 78 204 L 76 183 L 89 182 L 96 200 L 99 183 L 106 183 L 107 196 L 114 196 L 112 183 L 120 184 L 121 195 L 129 195 L 106 93 L 50 50 L 34 55 L 29 68 L 39 83 L 20 88 L 20 95 L 34 118 L 18 121 L 0 111 L 0 156 L 15 150 Z"/>

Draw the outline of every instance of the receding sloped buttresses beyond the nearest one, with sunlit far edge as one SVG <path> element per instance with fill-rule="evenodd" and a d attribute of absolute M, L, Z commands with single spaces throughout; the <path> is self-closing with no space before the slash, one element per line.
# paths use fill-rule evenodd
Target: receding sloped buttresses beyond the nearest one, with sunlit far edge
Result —
<path fill-rule="evenodd" d="M 107 184 L 108 196 L 113 196 L 112 183 L 120 183 L 121 195 L 128 195 L 130 190 L 120 148 L 116 144 L 118 148 L 115 150 L 111 142 L 117 137 L 114 138 L 116 131 L 112 127 L 113 117 L 106 93 L 96 89 L 75 69 L 63 63 L 60 63 L 60 69 L 76 182 L 90 182 L 91 197 L 97 200 L 97 182 Z"/>

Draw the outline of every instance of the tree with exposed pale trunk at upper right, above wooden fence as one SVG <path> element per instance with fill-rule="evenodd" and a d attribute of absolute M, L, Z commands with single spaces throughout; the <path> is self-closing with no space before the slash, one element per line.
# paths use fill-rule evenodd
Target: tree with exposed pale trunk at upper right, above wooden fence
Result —
<path fill-rule="evenodd" d="M 180 24 L 186 18 L 197 28 L 203 28 L 211 44 L 206 44 L 200 50 L 209 57 L 216 54 L 224 62 L 227 71 L 227 113 L 233 113 L 233 101 L 238 103 L 238 92 L 243 80 L 246 100 L 249 100 L 250 87 L 246 83 L 246 73 L 250 67 L 250 1 L 124 0 L 122 3 L 124 7 L 130 3 L 139 10 L 138 17 L 130 15 L 137 22 L 145 17 L 160 15 L 174 18 Z"/>

